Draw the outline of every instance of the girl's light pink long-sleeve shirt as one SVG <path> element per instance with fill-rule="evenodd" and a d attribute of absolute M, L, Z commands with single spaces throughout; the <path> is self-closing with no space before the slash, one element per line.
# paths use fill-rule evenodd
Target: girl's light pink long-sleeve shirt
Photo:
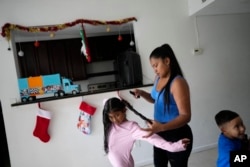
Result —
<path fill-rule="evenodd" d="M 182 141 L 168 142 L 153 134 L 143 138 L 148 132 L 141 130 L 133 121 L 126 121 L 120 125 L 113 124 L 109 133 L 108 158 L 113 167 L 134 167 L 131 151 L 136 140 L 144 140 L 150 144 L 170 152 L 184 151 Z"/>

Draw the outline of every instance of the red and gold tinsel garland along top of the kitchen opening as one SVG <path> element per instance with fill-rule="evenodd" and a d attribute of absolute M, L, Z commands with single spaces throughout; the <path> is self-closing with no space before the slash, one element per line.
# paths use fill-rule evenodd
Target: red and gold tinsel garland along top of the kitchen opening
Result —
<path fill-rule="evenodd" d="M 88 20 L 88 19 L 77 19 L 73 22 L 57 24 L 52 26 L 32 26 L 26 27 L 18 24 L 6 23 L 2 26 L 2 37 L 6 38 L 8 41 L 10 40 L 10 32 L 11 30 L 21 30 L 26 32 L 56 32 L 59 30 L 63 30 L 69 27 L 73 27 L 77 24 L 91 24 L 91 25 L 121 25 L 124 23 L 128 23 L 131 21 L 137 21 L 135 17 L 125 18 L 121 20 L 113 20 L 113 21 L 101 21 L 101 20 Z"/>

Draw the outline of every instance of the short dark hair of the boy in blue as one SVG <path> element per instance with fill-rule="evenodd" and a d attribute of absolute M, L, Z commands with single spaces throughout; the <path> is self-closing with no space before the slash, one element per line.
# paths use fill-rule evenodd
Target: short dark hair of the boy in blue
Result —
<path fill-rule="evenodd" d="M 224 123 L 227 123 L 234 118 L 238 117 L 239 114 L 236 112 L 230 111 L 230 110 L 221 110 L 215 115 L 215 122 L 217 123 L 218 126 L 223 125 Z"/>

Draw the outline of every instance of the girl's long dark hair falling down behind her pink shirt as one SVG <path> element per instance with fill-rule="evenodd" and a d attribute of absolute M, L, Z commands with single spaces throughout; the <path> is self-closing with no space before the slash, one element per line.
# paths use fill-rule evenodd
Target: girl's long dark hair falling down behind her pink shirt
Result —
<path fill-rule="evenodd" d="M 108 149 L 108 136 L 110 132 L 110 127 L 112 125 L 112 122 L 109 120 L 109 113 L 111 111 L 122 111 L 124 108 L 126 108 L 125 104 L 116 97 L 108 99 L 103 108 L 102 112 L 102 121 L 103 121 L 103 127 L 104 127 L 104 151 L 105 153 L 109 152 Z"/>

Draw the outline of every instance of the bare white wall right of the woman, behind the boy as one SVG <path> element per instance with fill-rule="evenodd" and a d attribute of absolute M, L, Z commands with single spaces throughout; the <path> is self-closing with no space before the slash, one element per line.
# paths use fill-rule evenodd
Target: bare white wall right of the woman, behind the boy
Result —
<path fill-rule="evenodd" d="M 187 76 L 193 104 L 191 125 L 200 134 L 195 138 L 197 148 L 216 142 L 214 115 L 219 110 L 239 112 L 250 128 L 249 19 L 250 14 L 197 17 L 204 54 L 192 63 L 197 72 Z"/>

